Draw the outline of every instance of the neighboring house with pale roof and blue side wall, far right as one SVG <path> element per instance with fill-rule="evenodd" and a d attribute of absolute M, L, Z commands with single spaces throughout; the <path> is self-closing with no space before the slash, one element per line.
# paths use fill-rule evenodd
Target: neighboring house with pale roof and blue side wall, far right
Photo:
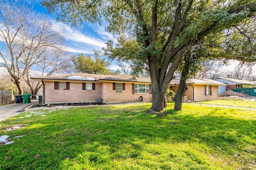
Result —
<path fill-rule="evenodd" d="M 246 81 L 246 80 L 238 80 L 233 78 L 223 78 L 223 77 L 216 77 L 213 80 L 216 80 L 218 82 L 226 83 L 226 88 L 229 90 L 232 90 L 232 88 L 242 88 L 243 85 L 252 85 L 253 82 Z M 219 87 L 219 94 L 223 94 L 226 92 L 226 88 L 220 86 Z"/>

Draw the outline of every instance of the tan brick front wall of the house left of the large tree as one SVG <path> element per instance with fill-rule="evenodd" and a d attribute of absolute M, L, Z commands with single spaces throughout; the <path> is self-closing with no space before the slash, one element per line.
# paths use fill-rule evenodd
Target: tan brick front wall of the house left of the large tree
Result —
<path fill-rule="evenodd" d="M 122 103 L 138 100 L 152 102 L 152 94 L 132 94 L 132 83 L 125 84 L 122 93 L 113 90 L 113 83 L 95 83 L 95 90 L 82 90 L 82 83 L 70 82 L 70 90 L 54 90 L 54 82 L 44 82 L 45 103 L 96 102 L 102 98 L 104 103 Z"/>

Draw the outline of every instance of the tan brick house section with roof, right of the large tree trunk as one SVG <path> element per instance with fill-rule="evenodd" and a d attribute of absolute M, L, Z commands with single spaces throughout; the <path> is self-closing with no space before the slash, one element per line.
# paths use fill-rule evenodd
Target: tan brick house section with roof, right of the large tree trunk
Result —
<path fill-rule="evenodd" d="M 170 82 L 170 90 L 177 94 L 180 84 L 180 79 L 173 79 Z M 183 102 L 188 101 L 203 101 L 203 100 L 218 100 L 218 87 L 224 86 L 225 83 L 210 79 L 189 79 L 186 81 L 187 90 L 184 94 Z M 173 100 L 176 99 L 176 95 Z"/>

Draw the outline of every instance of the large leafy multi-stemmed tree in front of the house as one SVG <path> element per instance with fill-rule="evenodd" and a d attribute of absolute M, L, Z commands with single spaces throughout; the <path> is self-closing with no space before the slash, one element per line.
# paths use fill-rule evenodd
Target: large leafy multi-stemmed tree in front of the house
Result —
<path fill-rule="evenodd" d="M 43 5 L 74 25 L 104 16 L 107 31 L 134 37 L 140 49 L 133 55 L 138 61 L 134 64 L 146 64 L 150 72 L 154 111 L 164 108 L 169 82 L 192 46 L 256 11 L 250 0 L 43 0 Z"/>

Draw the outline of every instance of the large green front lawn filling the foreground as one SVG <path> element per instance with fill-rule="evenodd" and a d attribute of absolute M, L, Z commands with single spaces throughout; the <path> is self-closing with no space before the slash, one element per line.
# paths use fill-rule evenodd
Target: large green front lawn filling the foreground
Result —
<path fill-rule="evenodd" d="M 160 116 L 146 113 L 150 105 L 21 113 L 0 122 L 0 136 L 15 141 L 0 145 L 0 169 L 256 168 L 255 111 L 183 104 L 173 112 L 168 103 Z"/>

